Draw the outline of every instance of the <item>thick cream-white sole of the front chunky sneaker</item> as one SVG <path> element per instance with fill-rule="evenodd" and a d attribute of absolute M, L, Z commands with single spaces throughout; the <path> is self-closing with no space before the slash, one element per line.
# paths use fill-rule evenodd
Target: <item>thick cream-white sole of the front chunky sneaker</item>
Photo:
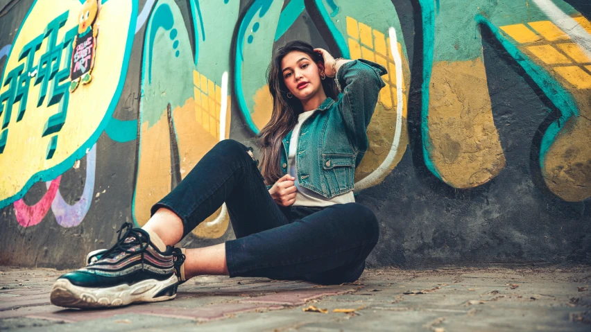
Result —
<path fill-rule="evenodd" d="M 148 279 L 109 288 L 76 286 L 68 279 L 58 279 L 50 299 L 51 304 L 66 308 L 112 308 L 136 302 L 161 302 L 176 297 L 177 283 L 175 274 L 164 281 Z"/>

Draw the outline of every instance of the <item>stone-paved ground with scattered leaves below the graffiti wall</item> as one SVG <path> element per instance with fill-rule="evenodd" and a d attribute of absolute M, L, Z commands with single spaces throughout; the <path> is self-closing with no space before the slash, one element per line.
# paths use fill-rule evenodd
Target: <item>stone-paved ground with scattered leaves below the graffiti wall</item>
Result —
<path fill-rule="evenodd" d="M 0 266 L 0 330 L 591 331 L 589 266 L 366 270 L 336 286 L 207 276 L 173 301 L 96 311 L 49 304 L 62 273 Z"/>

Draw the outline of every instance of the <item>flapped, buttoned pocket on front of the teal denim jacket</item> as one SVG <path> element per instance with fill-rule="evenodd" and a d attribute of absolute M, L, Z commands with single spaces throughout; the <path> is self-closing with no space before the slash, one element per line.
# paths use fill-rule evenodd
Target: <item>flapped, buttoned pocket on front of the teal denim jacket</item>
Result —
<path fill-rule="evenodd" d="M 355 156 L 341 153 L 323 153 L 325 181 L 332 195 L 353 188 Z"/>

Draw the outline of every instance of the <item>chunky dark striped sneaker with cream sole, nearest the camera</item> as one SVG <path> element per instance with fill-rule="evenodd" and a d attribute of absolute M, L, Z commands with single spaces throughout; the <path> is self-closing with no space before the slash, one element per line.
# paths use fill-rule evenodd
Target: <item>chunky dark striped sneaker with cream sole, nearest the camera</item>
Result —
<path fill-rule="evenodd" d="M 123 223 L 117 243 L 89 256 L 85 268 L 58 278 L 51 303 L 67 308 L 104 308 L 176 297 L 174 248 L 156 234 Z M 94 257 L 94 259 L 93 259 Z"/>

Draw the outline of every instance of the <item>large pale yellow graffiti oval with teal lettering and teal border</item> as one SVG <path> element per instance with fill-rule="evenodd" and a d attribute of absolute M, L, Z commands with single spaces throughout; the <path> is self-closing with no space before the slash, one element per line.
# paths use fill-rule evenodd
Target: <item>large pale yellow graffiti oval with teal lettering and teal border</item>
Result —
<path fill-rule="evenodd" d="M 136 16 L 137 0 L 33 2 L 0 76 L 0 174 L 10 174 L 0 183 L 0 208 L 64 173 L 105 130 L 125 82 Z M 76 53 L 85 68 L 76 67 Z M 93 83 L 70 93 L 70 78 Z"/>

